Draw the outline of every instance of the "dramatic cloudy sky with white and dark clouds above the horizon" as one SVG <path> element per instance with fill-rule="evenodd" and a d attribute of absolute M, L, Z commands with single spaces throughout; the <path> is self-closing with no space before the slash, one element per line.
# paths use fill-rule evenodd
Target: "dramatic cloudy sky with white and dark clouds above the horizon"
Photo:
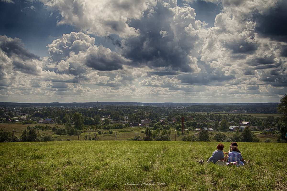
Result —
<path fill-rule="evenodd" d="M 285 0 L 0 0 L 0 102 L 265 103 Z"/>

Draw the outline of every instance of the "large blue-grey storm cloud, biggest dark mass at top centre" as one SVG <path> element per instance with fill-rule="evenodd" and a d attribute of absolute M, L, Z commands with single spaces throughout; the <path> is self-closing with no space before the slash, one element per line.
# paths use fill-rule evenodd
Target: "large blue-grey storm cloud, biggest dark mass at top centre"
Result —
<path fill-rule="evenodd" d="M 133 20 L 130 26 L 139 29 L 140 36 L 126 39 L 122 55 L 133 64 L 145 64 L 150 68 L 166 67 L 172 71 L 194 72 L 189 66 L 188 54 L 195 47 L 197 35 L 189 35 L 186 26 L 171 27 L 175 13 L 158 2 L 157 7 L 147 11 L 141 20 Z M 175 32 L 179 30 L 179 34 Z M 170 72 L 170 71 L 167 71 Z"/>

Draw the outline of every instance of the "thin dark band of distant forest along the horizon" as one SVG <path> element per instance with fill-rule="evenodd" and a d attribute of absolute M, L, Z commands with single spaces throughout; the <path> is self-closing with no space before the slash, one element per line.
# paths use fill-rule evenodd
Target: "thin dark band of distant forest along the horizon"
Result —
<path fill-rule="evenodd" d="M 277 113 L 279 103 L 137 103 L 137 102 L 91 102 L 91 103 L 0 103 L 0 107 L 65 107 L 97 109 L 166 110 L 180 108 L 183 112 L 244 112 L 244 113 Z M 166 112 L 164 112 L 166 113 Z"/>

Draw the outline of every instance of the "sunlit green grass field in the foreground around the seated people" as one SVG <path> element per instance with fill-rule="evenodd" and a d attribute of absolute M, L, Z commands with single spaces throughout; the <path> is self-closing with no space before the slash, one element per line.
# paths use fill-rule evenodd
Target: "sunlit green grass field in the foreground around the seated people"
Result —
<path fill-rule="evenodd" d="M 0 190 L 286 190 L 286 144 L 239 143 L 252 163 L 242 167 L 199 164 L 217 144 L 0 143 Z"/>

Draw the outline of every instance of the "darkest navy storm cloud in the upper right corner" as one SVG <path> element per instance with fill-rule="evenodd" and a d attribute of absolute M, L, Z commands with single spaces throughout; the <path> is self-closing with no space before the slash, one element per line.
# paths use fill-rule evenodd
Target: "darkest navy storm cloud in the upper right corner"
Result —
<path fill-rule="evenodd" d="M 274 40 L 287 42 L 287 1 L 279 1 L 276 7 L 272 7 L 269 13 L 253 15 L 257 26 L 257 33 Z"/>

